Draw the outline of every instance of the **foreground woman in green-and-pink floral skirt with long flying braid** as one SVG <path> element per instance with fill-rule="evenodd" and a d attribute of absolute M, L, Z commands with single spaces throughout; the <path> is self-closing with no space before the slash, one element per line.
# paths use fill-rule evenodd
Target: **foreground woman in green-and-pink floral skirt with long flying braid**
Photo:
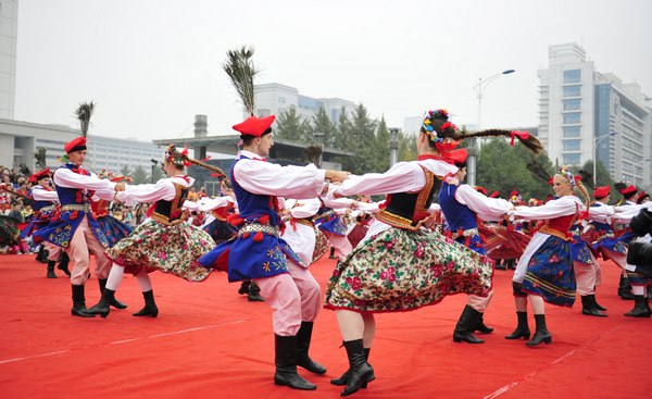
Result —
<path fill-rule="evenodd" d="M 457 142 L 482 136 L 512 136 L 539 148 L 536 138 L 507 130 L 463 134 L 448 122 L 446 110 L 429 111 L 416 137 L 417 161 L 400 162 L 384 174 L 354 176 L 329 196 L 387 194 L 365 238 L 333 273 L 325 307 L 336 311 L 349 370 L 341 396 L 374 379 L 367 363 L 375 336 L 375 312 L 415 310 L 459 292 L 486 297 L 492 286 L 493 261 L 441 234 L 421 229 L 432 196 L 444 176 L 453 175 Z M 450 152 L 449 152 L 450 151 Z M 461 151 L 461 150 L 459 150 Z M 465 151 L 464 151 L 465 152 Z"/>

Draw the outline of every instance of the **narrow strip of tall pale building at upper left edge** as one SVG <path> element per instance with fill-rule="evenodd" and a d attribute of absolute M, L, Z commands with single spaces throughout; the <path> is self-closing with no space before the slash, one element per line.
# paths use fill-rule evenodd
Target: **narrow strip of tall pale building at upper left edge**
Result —
<path fill-rule="evenodd" d="M 18 1 L 0 1 L 0 119 L 13 120 L 16 91 Z"/>

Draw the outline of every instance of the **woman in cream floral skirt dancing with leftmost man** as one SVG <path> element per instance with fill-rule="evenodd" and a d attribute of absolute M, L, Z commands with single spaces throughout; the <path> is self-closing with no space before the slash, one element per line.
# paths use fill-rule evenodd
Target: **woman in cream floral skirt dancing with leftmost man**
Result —
<path fill-rule="evenodd" d="M 167 178 L 153 185 L 126 186 L 124 191 L 116 194 L 116 201 L 127 207 L 137 202 L 155 203 L 150 208 L 150 219 L 106 251 L 113 266 L 102 298 L 89 309 L 91 314 L 102 317 L 109 315 L 109 304 L 115 297 L 125 271 L 136 275 L 145 299 L 145 307 L 134 313 L 134 316 L 155 317 L 159 314 L 148 273 L 158 270 L 189 282 L 203 282 L 209 277 L 210 271 L 199 267 L 197 259 L 215 244 L 208 233 L 187 223 L 187 213 L 181 211 L 188 188 L 195 183 L 185 173 L 186 166 L 192 163 L 222 172 L 215 166 L 188 158 L 187 150 L 179 152 L 171 145 L 163 161 Z"/>

